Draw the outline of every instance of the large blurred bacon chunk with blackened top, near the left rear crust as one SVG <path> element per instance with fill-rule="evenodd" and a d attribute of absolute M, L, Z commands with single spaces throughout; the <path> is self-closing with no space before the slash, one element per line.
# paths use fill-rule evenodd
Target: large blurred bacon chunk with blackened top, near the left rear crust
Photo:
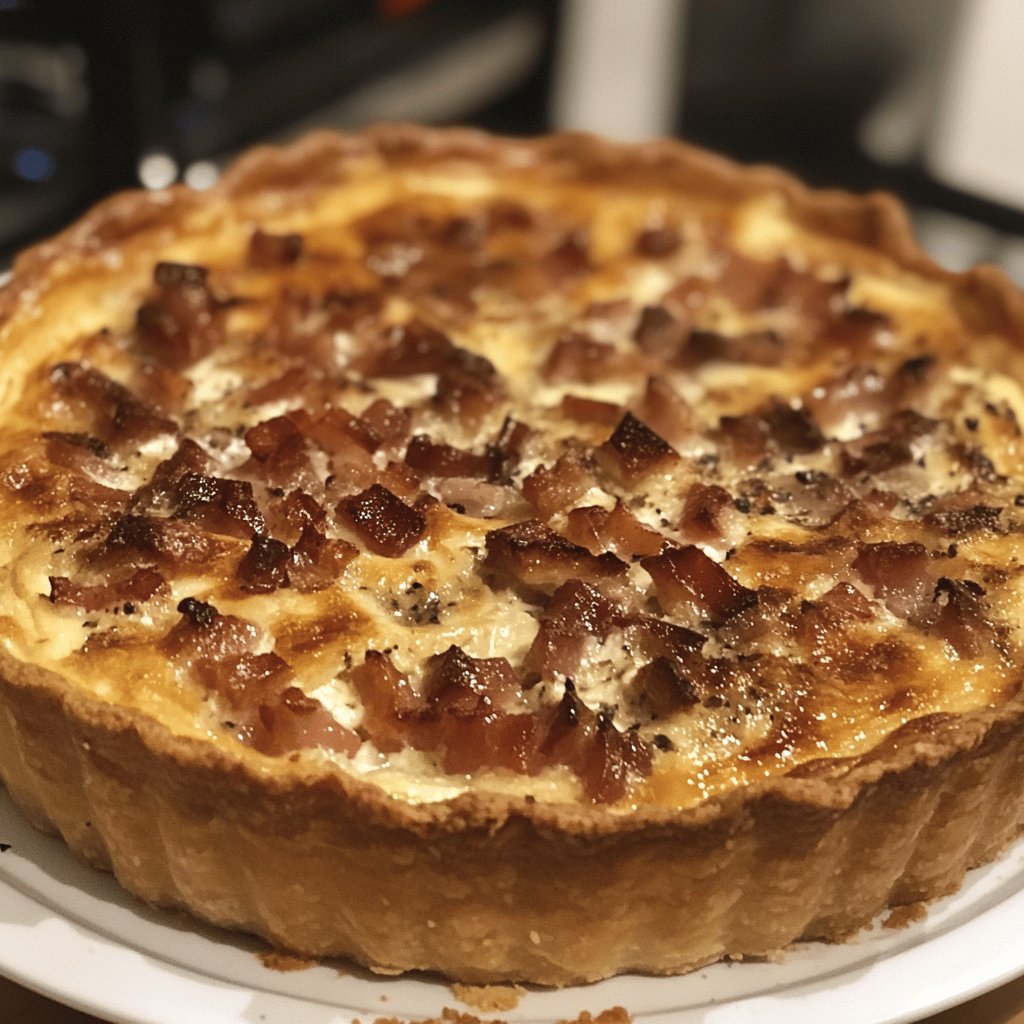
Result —
<path fill-rule="evenodd" d="M 135 317 L 142 351 L 172 370 L 183 370 L 209 355 L 224 340 L 224 303 L 207 283 L 205 267 L 158 263 L 153 298 Z"/>

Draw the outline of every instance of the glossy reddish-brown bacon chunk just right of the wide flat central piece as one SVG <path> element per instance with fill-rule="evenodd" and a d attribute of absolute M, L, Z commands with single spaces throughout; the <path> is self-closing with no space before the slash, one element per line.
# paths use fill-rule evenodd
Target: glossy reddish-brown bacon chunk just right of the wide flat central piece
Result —
<path fill-rule="evenodd" d="M 692 544 L 670 548 L 640 564 L 654 581 L 662 606 L 671 613 L 688 612 L 718 624 L 758 600 L 757 591 L 743 587 Z"/>

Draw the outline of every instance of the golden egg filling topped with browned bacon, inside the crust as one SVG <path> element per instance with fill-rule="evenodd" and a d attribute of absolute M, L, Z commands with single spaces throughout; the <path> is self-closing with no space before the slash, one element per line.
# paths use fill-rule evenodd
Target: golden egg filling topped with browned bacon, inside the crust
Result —
<path fill-rule="evenodd" d="M 629 811 L 1020 686 L 1022 356 L 935 280 L 390 169 L 0 395 L 0 642 L 239 756 Z M 233 236 L 232 236 L 233 238 Z"/>

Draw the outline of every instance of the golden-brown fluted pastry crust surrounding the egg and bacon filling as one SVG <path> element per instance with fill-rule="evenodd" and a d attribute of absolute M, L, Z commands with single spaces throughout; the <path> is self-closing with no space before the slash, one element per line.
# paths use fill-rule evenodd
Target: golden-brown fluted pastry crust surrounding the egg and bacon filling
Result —
<path fill-rule="evenodd" d="M 950 283 L 972 325 L 1024 335 L 1024 298 L 990 268 L 939 270 L 888 197 L 811 193 L 675 142 L 409 126 L 254 151 L 212 196 L 115 197 L 19 258 L 0 323 L 16 334 L 40 295 L 98 272 L 103 251 L 152 266 L 161 238 L 182 223 L 202 229 L 203 211 L 280 211 L 337 186 L 346 162 L 367 153 L 496 170 L 525 162 L 555 177 L 657 180 L 726 202 L 780 193 L 796 220 Z M 565 985 L 839 940 L 887 906 L 954 891 L 1024 817 L 1020 696 L 911 722 L 858 759 L 805 765 L 684 811 L 472 793 L 415 805 L 329 764 L 248 755 L 174 736 L 0 651 L 0 779 L 36 825 L 152 903 L 383 973 Z"/>

